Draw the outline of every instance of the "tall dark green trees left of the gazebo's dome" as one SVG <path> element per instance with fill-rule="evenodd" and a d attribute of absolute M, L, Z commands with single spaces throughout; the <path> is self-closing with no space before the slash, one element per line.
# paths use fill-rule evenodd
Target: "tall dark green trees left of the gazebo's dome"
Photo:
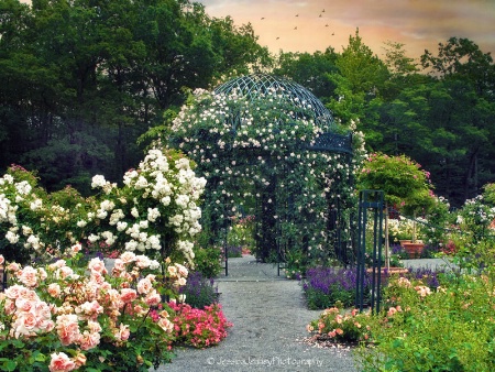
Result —
<path fill-rule="evenodd" d="M 1 12 L 0 168 L 36 168 L 48 190 L 118 179 L 188 88 L 270 63 L 250 24 L 188 0 L 2 1 Z"/>

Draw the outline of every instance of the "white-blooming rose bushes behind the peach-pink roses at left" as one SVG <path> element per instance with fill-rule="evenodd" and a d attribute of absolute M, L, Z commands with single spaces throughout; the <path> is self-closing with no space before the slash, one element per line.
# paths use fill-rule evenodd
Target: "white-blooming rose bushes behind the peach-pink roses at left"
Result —
<path fill-rule="evenodd" d="M 72 188 L 47 195 L 31 173 L 11 167 L 0 178 L 0 253 L 25 261 L 81 242 L 95 251 L 175 255 L 191 264 L 205 185 L 188 158 L 158 147 L 125 173 L 122 187 L 95 176 L 99 194 L 86 199 Z"/>

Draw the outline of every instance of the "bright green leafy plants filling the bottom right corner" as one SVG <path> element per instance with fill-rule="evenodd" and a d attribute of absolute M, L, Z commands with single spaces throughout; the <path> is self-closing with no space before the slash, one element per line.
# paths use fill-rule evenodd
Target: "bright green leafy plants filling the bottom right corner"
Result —
<path fill-rule="evenodd" d="M 392 281 L 386 308 L 370 321 L 373 348 L 359 352 L 364 371 L 491 371 L 495 331 L 493 275 L 454 276 L 437 292 Z"/>

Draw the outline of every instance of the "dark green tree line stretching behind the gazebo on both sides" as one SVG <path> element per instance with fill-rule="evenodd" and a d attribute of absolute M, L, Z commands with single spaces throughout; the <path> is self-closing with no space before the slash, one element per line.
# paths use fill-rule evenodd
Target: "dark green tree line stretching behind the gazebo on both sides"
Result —
<path fill-rule="evenodd" d="M 270 55 L 250 24 L 184 0 L 0 0 L 0 168 L 37 169 L 50 192 L 120 179 L 188 89 L 253 70 L 309 88 L 369 150 L 420 163 L 452 207 L 495 178 L 495 67 L 468 39 L 419 61 L 394 42 L 381 59 L 359 32 L 341 52 Z"/>

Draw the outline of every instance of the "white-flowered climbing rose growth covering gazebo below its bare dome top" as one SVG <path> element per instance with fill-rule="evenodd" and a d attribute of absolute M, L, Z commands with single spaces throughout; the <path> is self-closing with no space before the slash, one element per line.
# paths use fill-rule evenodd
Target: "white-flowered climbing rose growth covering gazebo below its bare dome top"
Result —
<path fill-rule="evenodd" d="M 262 260 L 271 259 L 276 244 L 315 259 L 331 255 L 330 225 L 349 233 L 349 218 L 331 221 L 331 210 L 353 205 L 359 154 L 305 150 L 323 132 L 349 130 L 315 122 L 314 116 L 310 106 L 284 91 L 249 99 L 194 92 L 173 122 L 170 141 L 208 179 L 202 225 L 211 237 L 221 239 L 231 218 L 244 212 L 255 215 L 255 253 Z M 354 140 L 361 147 L 362 136 Z"/>

